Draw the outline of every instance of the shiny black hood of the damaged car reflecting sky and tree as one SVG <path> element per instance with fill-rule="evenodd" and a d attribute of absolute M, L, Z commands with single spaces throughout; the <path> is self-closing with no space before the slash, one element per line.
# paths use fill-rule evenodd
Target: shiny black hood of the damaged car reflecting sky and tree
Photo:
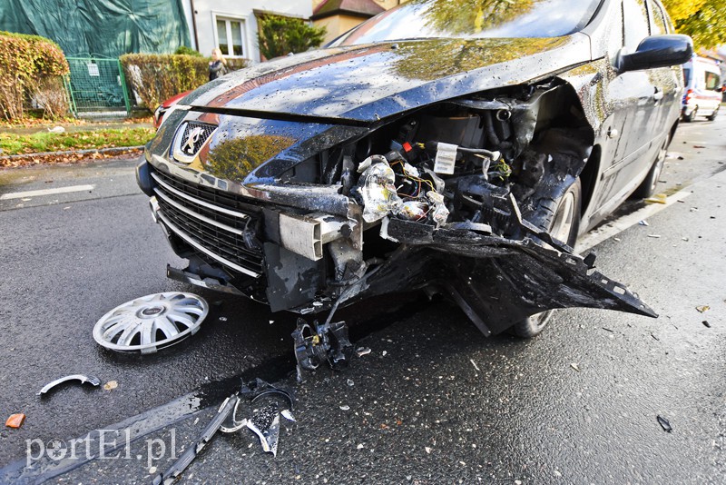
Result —
<path fill-rule="evenodd" d="M 584 34 L 430 39 L 290 55 L 242 69 L 190 94 L 194 109 L 371 122 L 418 106 L 521 84 L 590 60 Z"/>

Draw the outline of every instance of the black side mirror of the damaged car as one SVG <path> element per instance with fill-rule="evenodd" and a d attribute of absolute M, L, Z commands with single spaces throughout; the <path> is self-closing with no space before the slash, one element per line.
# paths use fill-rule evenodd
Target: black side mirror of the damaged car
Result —
<path fill-rule="evenodd" d="M 692 55 L 693 41 L 688 35 L 651 35 L 643 39 L 633 54 L 621 56 L 618 71 L 625 73 L 683 64 Z"/>

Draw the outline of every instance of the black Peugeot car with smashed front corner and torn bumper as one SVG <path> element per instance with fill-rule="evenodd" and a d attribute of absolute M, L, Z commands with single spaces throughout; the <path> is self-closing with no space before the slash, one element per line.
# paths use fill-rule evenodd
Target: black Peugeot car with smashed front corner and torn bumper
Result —
<path fill-rule="evenodd" d="M 678 64 L 657 0 L 410 0 L 164 116 L 137 177 L 174 279 L 327 312 L 390 292 L 486 335 L 557 308 L 655 313 L 573 245 L 653 192 Z"/>

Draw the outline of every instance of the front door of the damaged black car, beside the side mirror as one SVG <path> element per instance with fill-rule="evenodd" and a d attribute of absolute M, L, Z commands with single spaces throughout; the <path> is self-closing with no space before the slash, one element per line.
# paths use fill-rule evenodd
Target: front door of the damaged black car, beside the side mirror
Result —
<path fill-rule="evenodd" d="M 650 34 L 645 0 L 623 0 L 623 53 L 635 52 Z M 660 70 L 616 74 L 606 88 L 607 103 L 613 106 L 613 115 L 607 120 L 611 147 L 603 160 L 602 190 L 594 201 L 598 207 L 595 213 L 610 213 L 633 192 L 640 182 L 635 179 L 643 178 L 642 161 L 651 161 L 658 148 L 652 146 L 652 140 L 662 129 L 659 108 L 664 93 L 660 77 L 652 71 Z M 654 127 L 653 122 L 660 124 Z"/>

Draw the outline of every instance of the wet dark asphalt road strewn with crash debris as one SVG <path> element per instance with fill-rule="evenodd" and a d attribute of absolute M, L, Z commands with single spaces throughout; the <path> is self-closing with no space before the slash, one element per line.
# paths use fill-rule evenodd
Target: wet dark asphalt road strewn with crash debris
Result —
<path fill-rule="evenodd" d="M 186 482 L 721 483 L 724 135 L 724 116 L 682 125 L 661 183 L 682 202 L 623 231 L 618 221 L 642 210 L 628 203 L 603 227 L 610 237 L 596 247 L 598 269 L 638 292 L 657 320 L 575 309 L 532 341 L 486 339 L 445 302 L 381 300 L 345 315 L 371 353 L 299 385 L 285 378 L 295 319 L 211 292 L 201 292 L 214 304 L 193 338 L 144 357 L 100 349 L 93 323 L 114 306 L 199 292 L 164 277 L 167 262 L 183 262 L 152 223 L 132 161 L 0 172 L 0 197 L 93 185 L 0 200 L 0 416 L 27 415 L 20 430 L 0 431 L 0 481 L 61 473 L 53 480 L 148 482 L 189 447 L 241 375 L 293 389 L 297 422 L 283 421 L 277 458 L 250 431 L 217 436 Z M 35 396 L 76 372 L 118 387 Z M 23 470 L 27 440 L 47 449 L 99 429 L 121 430 L 107 431 L 111 440 L 128 433 L 128 450 L 105 460 L 44 457 Z"/>

